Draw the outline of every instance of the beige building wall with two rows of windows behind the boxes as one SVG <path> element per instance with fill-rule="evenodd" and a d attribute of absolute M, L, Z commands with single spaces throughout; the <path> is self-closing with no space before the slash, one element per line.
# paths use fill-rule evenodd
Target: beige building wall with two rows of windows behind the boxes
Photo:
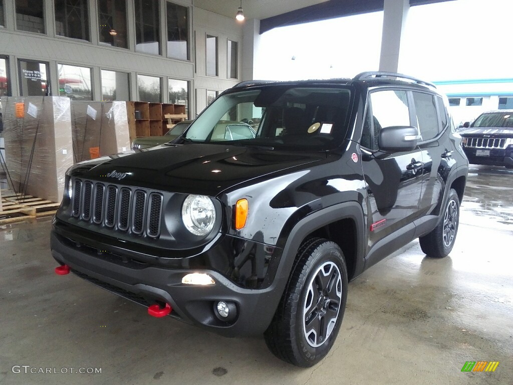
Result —
<path fill-rule="evenodd" d="M 243 26 L 192 0 L 0 0 L 0 96 L 186 104 L 241 79 Z"/>

